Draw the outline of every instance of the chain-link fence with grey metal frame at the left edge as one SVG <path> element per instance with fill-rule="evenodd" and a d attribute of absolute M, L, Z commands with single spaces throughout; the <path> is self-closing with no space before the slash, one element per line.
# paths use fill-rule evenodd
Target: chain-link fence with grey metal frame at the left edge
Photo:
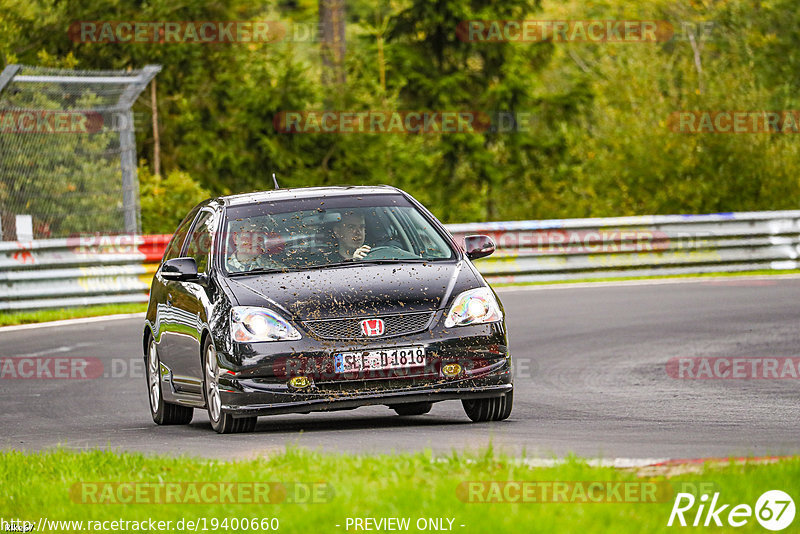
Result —
<path fill-rule="evenodd" d="M 140 232 L 131 107 L 160 70 L 0 73 L 0 240 Z"/>

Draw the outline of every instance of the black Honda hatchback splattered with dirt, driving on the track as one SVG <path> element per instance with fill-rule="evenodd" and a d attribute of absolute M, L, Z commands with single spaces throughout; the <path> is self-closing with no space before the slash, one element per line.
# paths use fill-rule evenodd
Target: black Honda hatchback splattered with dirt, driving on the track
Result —
<path fill-rule="evenodd" d="M 464 252 L 464 250 L 466 252 Z M 220 433 L 260 415 L 458 399 L 511 413 L 503 308 L 464 250 L 399 189 L 277 189 L 207 200 L 167 245 L 143 348 L 153 420 L 206 408 Z"/>

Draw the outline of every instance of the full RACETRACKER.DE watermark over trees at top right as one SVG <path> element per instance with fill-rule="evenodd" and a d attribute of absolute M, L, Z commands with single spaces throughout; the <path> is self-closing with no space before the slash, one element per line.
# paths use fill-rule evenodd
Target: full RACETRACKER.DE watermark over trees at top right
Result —
<path fill-rule="evenodd" d="M 456 28 L 471 43 L 656 43 L 674 33 L 666 20 L 464 20 Z"/>

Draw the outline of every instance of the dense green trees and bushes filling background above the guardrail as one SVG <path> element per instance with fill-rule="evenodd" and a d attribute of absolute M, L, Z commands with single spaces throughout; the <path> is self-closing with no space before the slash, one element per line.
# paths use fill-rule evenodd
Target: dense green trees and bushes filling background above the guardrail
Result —
<path fill-rule="evenodd" d="M 67 33 L 76 20 L 281 20 L 315 28 L 314 0 L 0 0 L 0 66 L 162 64 L 162 165 L 211 194 L 270 188 L 276 172 L 284 186 L 396 185 L 446 222 L 782 209 L 800 196 L 794 136 L 675 133 L 668 119 L 681 110 L 798 109 L 795 4 L 349 0 L 347 82 L 327 87 L 316 41 L 104 44 L 75 43 Z M 666 20 L 675 36 L 464 42 L 457 28 L 470 19 Z M 713 31 L 697 33 L 693 44 L 688 32 L 697 23 Z M 150 111 L 147 96 L 139 113 Z M 324 109 L 531 119 L 516 131 L 468 134 L 285 134 L 273 126 L 282 111 Z M 140 157 L 149 159 L 149 124 L 137 126 Z M 169 206 L 151 208 L 159 215 L 146 225 L 172 221 Z"/>

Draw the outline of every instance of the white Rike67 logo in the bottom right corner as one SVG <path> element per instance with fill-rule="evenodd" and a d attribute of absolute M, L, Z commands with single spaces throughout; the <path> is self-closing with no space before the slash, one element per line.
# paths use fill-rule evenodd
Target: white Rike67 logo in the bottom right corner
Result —
<path fill-rule="evenodd" d="M 689 521 L 693 527 L 742 527 L 755 515 L 756 521 L 762 527 L 778 531 L 791 525 L 795 515 L 794 501 L 788 493 L 781 490 L 765 491 L 756 501 L 755 508 L 749 504 L 733 506 L 723 503 L 719 492 L 714 493 L 711 502 L 708 501 L 708 494 L 705 493 L 700 499 L 695 499 L 691 493 L 678 493 L 667 526 L 671 527 L 677 519 L 677 524 L 682 527 L 687 526 Z"/>

